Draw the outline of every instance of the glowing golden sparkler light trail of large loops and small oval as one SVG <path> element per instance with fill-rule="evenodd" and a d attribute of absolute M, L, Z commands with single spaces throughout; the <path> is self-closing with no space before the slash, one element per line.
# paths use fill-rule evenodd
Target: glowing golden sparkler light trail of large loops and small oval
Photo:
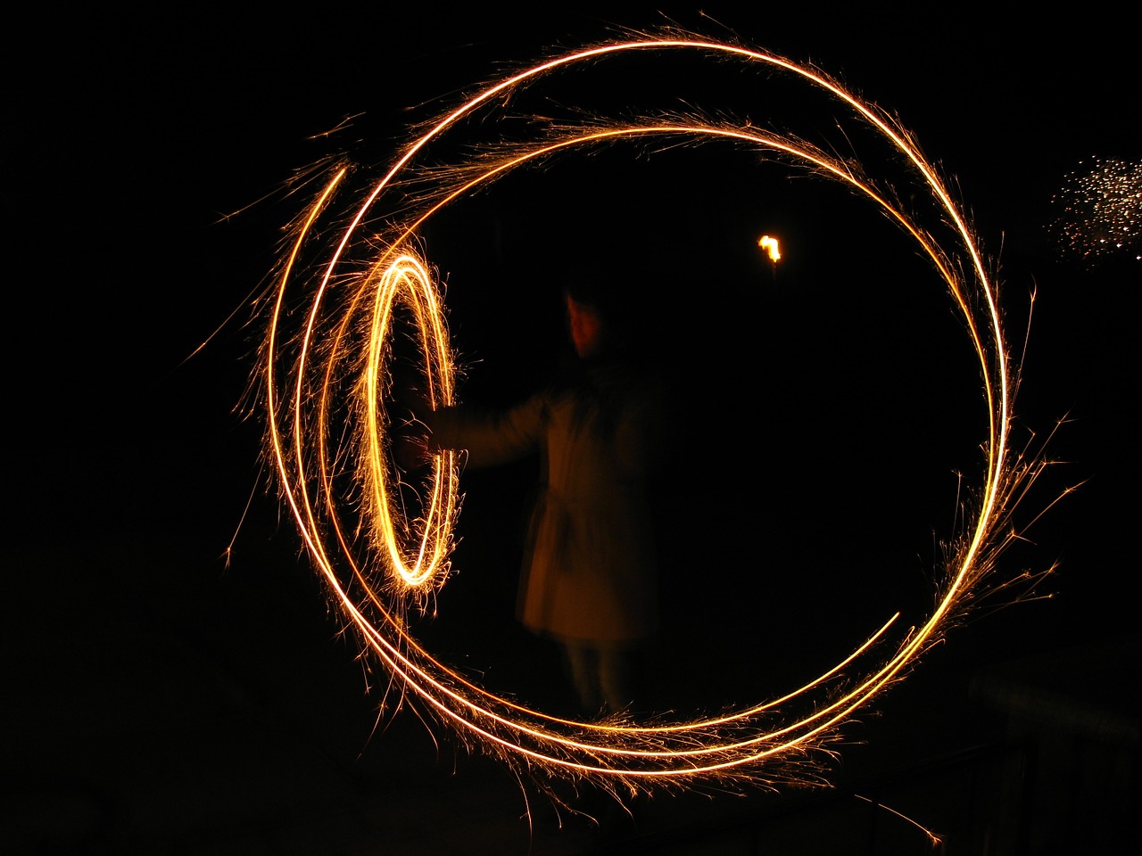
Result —
<path fill-rule="evenodd" d="M 839 158 L 835 147 L 766 129 L 756 118 L 733 122 L 661 110 L 652 118 L 536 122 L 530 139 L 484 145 L 444 167 L 426 156 L 450 132 L 486 126 L 493 105 L 541 86 L 556 71 L 620 56 L 652 64 L 669 53 L 743 63 L 803 86 L 806 97 L 829 102 L 886 144 L 903 164 L 908 192 L 874 178 L 868 164 Z M 365 188 L 348 192 L 348 165 L 330 170 L 296 221 L 275 274 L 259 365 L 267 449 L 283 500 L 340 614 L 391 677 L 394 704 L 413 703 L 521 774 L 589 780 L 617 794 L 727 780 L 774 786 L 822 781 L 820 765 L 838 728 L 900 679 L 976 596 L 1002 588 L 992 580 L 996 558 L 1014 538 L 1015 502 L 1042 467 L 1008 449 L 1015 372 L 995 286 L 941 177 L 895 120 L 820 71 L 673 32 L 566 53 L 488 86 L 425 128 Z M 779 698 L 686 721 L 622 716 L 578 721 L 489 692 L 412 636 L 409 611 L 429 609 L 449 579 L 458 461 L 439 454 L 421 483 L 402 481 L 407 476 L 393 461 L 393 444 L 405 418 L 400 396 L 407 385 L 394 382 L 394 366 L 411 372 L 409 388 L 428 406 L 452 402 L 441 293 L 419 239 L 436 213 L 520 167 L 613 140 L 654 138 L 747 147 L 762 159 L 839 183 L 906 231 L 952 297 L 978 360 L 988 414 L 981 443 L 986 475 L 962 534 L 947 546 L 946 567 L 938 568 L 931 613 L 917 627 L 901 630 L 895 628 L 899 613 L 888 616 L 869 628 L 855 651 Z M 356 202 L 337 209 L 340 196 Z M 914 207 L 916 199 L 925 201 L 917 212 L 903 209 L 901 199 L 911 199 Z M 415 357 L 408 358 L 409 349 Z"/>

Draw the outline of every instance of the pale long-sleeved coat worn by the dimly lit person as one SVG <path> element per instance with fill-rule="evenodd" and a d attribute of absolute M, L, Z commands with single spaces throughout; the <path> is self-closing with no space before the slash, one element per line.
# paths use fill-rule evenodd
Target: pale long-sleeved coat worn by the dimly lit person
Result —
<path fill-rule="evenodd" d="M 467 450 L 472 466 L 540 455 L 517 606 L 533 632 L 621 648 L 657 631 L 646 490 L 659 419 L 653 386 L 605 364 L 504 413 L 460 407 L 429 418 L 433 444 Z"/>

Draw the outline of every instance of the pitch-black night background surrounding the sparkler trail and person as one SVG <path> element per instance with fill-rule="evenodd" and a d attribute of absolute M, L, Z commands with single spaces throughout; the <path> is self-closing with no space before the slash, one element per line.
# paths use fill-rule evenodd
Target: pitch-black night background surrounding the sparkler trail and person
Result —
<path fill-rule="evenodd" d="M 664 794 L 608 839 L 560 831 L 532 793 L 529 833 L 520 786 L 491 761 L 447 738 L 434 746 L 409 711 L 372 734 L 379 695 L 365 692 L 267 490 L 258 417 L 240 412 L 259 336 L 246 323 L 249 298 L 297 210 L 280 193 L 293 170 L 337 151 L 383 162 L 436 99 L 552 46 L 666 16 L 434 3 L 45 14 L 9 108 L 19 280 L 0 721 L 16 797 L 0 813 L 0 843 L 46 854 L 571 854 L 608 842 L 616 853 L 925 851 L 923 840 L 886 843 L 886 815 L 850 814 L 854 792 L 942 832 L 952 854 L 1125 840 L 1137 807 L 1131 417 L 1142 267 L 1125 252 L 1063 257 L 1046 226 L 1052 195 L 1084 159 L 1140 158 L 1129 26 L 1110 13 L 996 19 L 986 5 L 933 8 L 927 22 L 856 7 L 835 18 L 705 9 L 665 11 L 711 39 L 732 31 L 815 62 L 900 115 L 998 258 L 1016 356 L 1036 292 L 1014 442 L 1036 447 L 1032 436 L 1067 421 L 1047 449 L 1060 463 L 1016 523 L 1081 487 L 1027 531 L 999 574 L 1057 563 L 1038 590 L 1052 597 L 983 608 L 956 628 L 847 733 L 834 802 Z M 662 68 L 654 82 L 678 74 L 679 102 L 707 106 L 716 88 L 758 123 L 828 126 L 796 100 L 751 100 L 756 81 L 740 74 L 727 83 Z M 587 74 L 581 90 L 568 81 L 569 94 L 616 103 L 641 83 L 637 72 L 618 83 Z M 347 116 L 347 130 L 314 138 Z M 587 160 L 513 176 L 426 235 L 471 363 L 464 397 L 506 404 L 541 381 L 561 353 L 555 283 L 587 251 L 638 272 L 648 347 L 687 414 L 664 502 L 677 515 L 664 568 L 673 662 L 649 667 L 653 693 L 699 708 L 753 697 L 755 686 L 775 693 L 891 611 L 922 614 L 935 539 L 955 516 L 955 473 L 972 483 L 984 437 L 963 325 L 896 231 L 830 185 L 715 147 L 617 146 Z M 775 275 L 751 244 L 763 232 L 785 240 Z M 698 285 L 664 299 L 683 283 Z M 723 371 L 730 356 L 745 368 Z M 756 478 L 748 490 L 741 467 Z M 529 462 L 466 478 L 461 573 L 424 633 L 490 685 L 557 706 L 554 652 L 512 619 L 532 474 Z M 715 567 L 725 576 L 713 580 Z M 693 578 L 710 593 L 682 588 Z"/>

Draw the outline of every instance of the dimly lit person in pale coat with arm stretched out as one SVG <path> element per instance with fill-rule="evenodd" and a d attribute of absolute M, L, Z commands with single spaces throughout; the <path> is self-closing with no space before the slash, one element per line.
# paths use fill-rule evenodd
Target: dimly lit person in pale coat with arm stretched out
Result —
<path fill-rule="evenodd" d="M 563 649 L 587 714 L 634 705 L 634 652 L 658 631 L 648 495 L 659 457 L 660 395 L 596 290 L 564 293 L 577 360 L 505 412 L 465 406 L 423 415 L 428 447 L 468 466 L 540 458 L 517 616 Z"/>

